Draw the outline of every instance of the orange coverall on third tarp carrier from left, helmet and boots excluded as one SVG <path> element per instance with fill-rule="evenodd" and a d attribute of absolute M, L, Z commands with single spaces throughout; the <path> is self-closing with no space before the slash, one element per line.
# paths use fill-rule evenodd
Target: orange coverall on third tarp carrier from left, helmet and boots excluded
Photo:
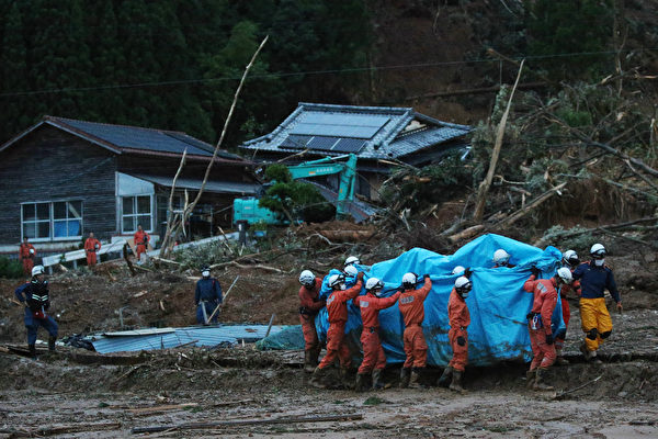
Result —
<path fill-rule="evenodd" d="M 361 331 L 363 361 L 359 367 L 359 373 L 370 373 L 373 369 L 386 368 L 386 356 L 382 340 L 379 340 L 379 309 L 395 305 L 399 296 L 399 291 L 390 297 L 377 297 L 367 293 L 354 300 L 354 305 L 361 309 L 361 319 L 363 320 L 363 330 Z"/>

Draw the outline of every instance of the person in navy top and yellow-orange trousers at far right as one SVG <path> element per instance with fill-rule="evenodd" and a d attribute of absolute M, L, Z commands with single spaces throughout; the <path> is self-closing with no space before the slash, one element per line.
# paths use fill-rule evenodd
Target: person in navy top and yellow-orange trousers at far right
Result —
<path fill-rule="evenodd" d="M 580 351 L 585 359 L 600 363 L 597 350 L 612 334 L 612 319 L 605 306 L 604 291 L 610 291 L 622 312 L 622 299 L 617 291 L 612 270 L 605 266 L 605 247 L 594 244 L 590 249 L 592 260 L 581 263 L 574 270 L 574 279 L 580 280 L 580 320 L 586 334 Z"/>

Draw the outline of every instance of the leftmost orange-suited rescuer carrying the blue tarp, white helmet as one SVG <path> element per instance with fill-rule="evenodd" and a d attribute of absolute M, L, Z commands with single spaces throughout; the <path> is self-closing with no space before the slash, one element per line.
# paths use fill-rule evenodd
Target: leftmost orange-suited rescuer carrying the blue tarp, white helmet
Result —
<path fill-rule="evenodd" d="M 299 322 L 304 333 L 304 371 L 313 372 L 318 365 L 320 356 L 320 341 L 315 328 L 315 317 L 325 307 L 326 301 L 320 299 L 322 280 L 316 278 L 311 271 L 304 270 L 299 274 Z"/>

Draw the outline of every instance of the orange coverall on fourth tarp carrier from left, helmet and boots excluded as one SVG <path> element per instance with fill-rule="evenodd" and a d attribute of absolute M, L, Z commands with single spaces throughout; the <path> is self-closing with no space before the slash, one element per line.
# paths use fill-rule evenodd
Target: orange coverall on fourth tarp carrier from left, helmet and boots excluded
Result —
<path fill-rule="evenodd" d="M 405 353 L 407 359 L 402 368 L 424 368 L 428 362 L 428 344 L 422 334 L 422 320 L 424 319 L 424 300 L 432 290 L 430 278 L 418 290 L 405 290 L 400 295 L 398 307 L 405 320 Z"/>

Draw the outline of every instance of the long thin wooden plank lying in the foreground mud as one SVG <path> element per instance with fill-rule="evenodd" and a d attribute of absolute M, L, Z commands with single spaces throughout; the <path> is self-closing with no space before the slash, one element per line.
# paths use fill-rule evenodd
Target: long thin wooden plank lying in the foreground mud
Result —
<path fill-rule="evenodd" d="M 328 415 L 328 416 L 304 416 L 288 417 L 276 419 L 240 419 L 240 420 L 220 420 L 215 423 L 186 423 L 173 424 L 154 427 L 135 427 L 131 430 L 133 435 L 143 432 L 160 432 L 164 430 L 193 430 L 217 427 L 239 427 L 239 426 L 257 426 L 271 424 L 302 424 L 302 423 L 331 423 L 340 420 L 360 420 L 363 419 L 363 414 L 354 413 L 349 415 Z"/>

